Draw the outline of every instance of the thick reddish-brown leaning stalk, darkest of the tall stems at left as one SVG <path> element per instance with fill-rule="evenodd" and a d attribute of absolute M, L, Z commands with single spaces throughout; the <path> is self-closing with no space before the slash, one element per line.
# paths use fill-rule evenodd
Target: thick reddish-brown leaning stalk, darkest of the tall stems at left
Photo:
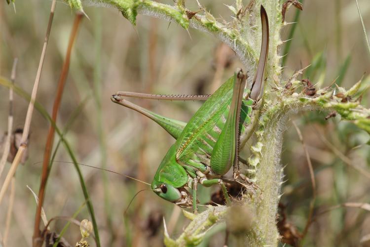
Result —
<path fill-rule="evenodd" d="M 56 96 L 55 96 L 55 99 L 54 99 L 53 112 L 52 112 L 52 116 L 51 116 L 54 123 L 57 120 L 57 115 L 58 115 L 59 106 L 60 106 L 60 103 L 61 103 L 61 100 L 62 100 L 64 85 L 65 85 L 67 75 L 68 75 L 68 70 L 69 70 L 69 67 L 70 67 L 72 47 L 73 47 L 74 40 L 76 38 L 78 27 L 79 27 L 79 24 L 80 24 L 80 21 L 81 21 L 82 17 L 83 17 L 83 13 L 77 13 L 75 18 L 74 18 L 74 25 L 73 25 L 73 29 L 72 29 L 71 35 L 70 35 L 70 40 L 69 40 L 69 43 L 68 43 L 66 59 L 65 59 L 64 64 L 63 64 L 62 73 L 61 73 L 61 76 L 59 78 L 58 88 L 57 88 Z M 42 174 L 41 174 L 40 189 L 38 191 L 39 203 L 37 205 L 36 216 L 35 216 L 33 246 L 41 246 L 42 245 L 42 241 L 40 239 L 39 225 L 40 225 L 40 218 L 41 218 L 41 208 L 42 208 L 42 204 L 43 204 L 43 200 L 44 200 L 44 196 L 45 196 L 46 182 L 47 182 L 47 178 L 48 178 L 48 166 L 49 166 L 49 161 L 50 161 L 50 156 L 51 156 L 52 144 L 53 144 L 53 141 L 54 141 L 54 133 L 55 133 L 55 128 L 54 128 L 53 124 L 50 124 L 49 131 L 48 131 L 48 134 L 47 134 L 47 139 L 46 139 L 44 159 L 43 159 L 43 163 L 42 163 Z"/>

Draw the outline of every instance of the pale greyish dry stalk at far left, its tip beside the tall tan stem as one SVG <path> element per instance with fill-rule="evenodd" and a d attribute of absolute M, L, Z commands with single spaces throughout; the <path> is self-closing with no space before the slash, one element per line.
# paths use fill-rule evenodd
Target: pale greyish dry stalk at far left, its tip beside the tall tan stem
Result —
<path fill-rule="evenodd" d="M 15 81 L 16 67 L 17 67 L 17 58 L 14 59 L 13 68 L 11 70 L 11 75 L 10 75 L 10 80 L 11 80 L 11 83 L 13 83 L 13 84 L 14 84 L 14 81 Z M 9 155 L 12 128 L 13 128 L 13 87 L 10 87 L 9 88 L 8 133 L 6 135 L 6 140 L 5 140 L 5 144 L 4 144 L 4 151 L 2 153 L 1 160 L 0 160 L 0 177 L 1 177 L 2 171 L 5 167 L 8 155 Z"/>

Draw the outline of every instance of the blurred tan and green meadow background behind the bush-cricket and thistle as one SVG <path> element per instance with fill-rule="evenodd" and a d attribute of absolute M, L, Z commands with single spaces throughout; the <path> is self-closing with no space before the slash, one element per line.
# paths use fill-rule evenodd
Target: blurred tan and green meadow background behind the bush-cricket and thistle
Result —
<path fill-rule="evenodd" d="M 172 3 L 171 0 L 163 0 Z M 202 0 L 216 17 L 230 18 L 222 3 L 232 0 Z M 0 75 L 10 77 L 13 59 L 18 58 L 16 85 L 31 92 L 44 38 L 51 0 L 0 4 Z M 370 4 L 359 0 L 365 26 L 370 30 Z M 197 9 L 196 1 L 187 7 Z M 64 90 L 57 125 L 70 125 L 66 139 L 81 164 L 105 167 L 151 182 L 155 170 L 174 139 L 158 125 L 138 113 L 113 104 L 111 94 L 118 90 L 161 94 L 212 93 L 241 64 L 233 51 L 210 35 L 189 30 L 177 24 L 138 16 L 133 27 L 113 8 L 88 6 L 74 45 L 71 68 Z M 287 12 L 293 22 L 296 9 Z M 56 83 L 72 28 L 74 13 L 58 2 L 41 76 L 37 101 L 51 113 Z M 282 31 L 289 37 L 292 25 Z M 354 0 L 306 0 L 292 45 L 286 56 L 283 79 L 309 64 L 303 78 L 319 83 L 336 83 L 350 87 L 363 76 L 370 83 L 370 54 L 366 48 L 360 18 Z M 370 106 L 370 94 L 363 104 Z M 154 112 L 187 121 L 201 102 L 160 102 L 133 100 Z M 8 89 L 0 87 L 0 131 L 7 129 Z M 15 95 L 14 126 L 23 127 L 28 102 Z M 300 112 L 292 121 L 298 125 L 310 154 L 317 182 L 315 213 L 345 202 L 370 201 L 369 179 L 346 165 L 335 153 L 340 152 L 353 164 L 370 169 L 369 135 L 338 118 L 325 120 L 328 113 Z M 31 124 L 29 158 L 16 172 L 16 196 L 10 227 L 9 246 L 31 246 L 36 203 L 27 189 L 38 191 L 41 161 L 45 148 L 46 121 L 38 112 Z M 282 205 L 290 226 L 302 231 L 312 198 L 308 166 L 296 130 L 285 132 L 282 164 L 286 182 Z M 327 145 L 330 142 L 334 146 Z M 54 148 L 58 142 L 55 138 Z M 334 151 L 333 151 L 334 150 Z M 78 177 L 70 157 L 61 146 L 51 170 L 44 209 L 48 218 L 72 217 L 84 203 Z M 5 167 L 6 174 L 9 165 Z M 182 232 L 187 220 L 178 207 L 161 200 L 150 191 L 142 192 L 123 213 L 130 200 L 147 185 L 98 169 L 81 166 L 94 205 L 102 246 L 162 246 L 163 223 L 172 236 Z M 0 183 L 4 175 L 0 177 Z M 213 189 L 202 189 L 201 203 L 210 201 Z M 7 198 L 0 207 L 0 222 L 5 221 Z M 89 218 L 84 207 L 76 219 Z M 304 246 L 359 246 L 370 234 L 368 211 L 340 207 L 317 215 L 309 229 Z M 51 224 L 60 232 L 66 221 Z M 0 224 L 3 231 L 3 223 Z M 224 226 L 203 246 L 221 246 Z M 72 225 L 64 235 L 72 245 L 80 239 L 78 227 Z M 370 238 L 369 238 L 370 239 Z M 93 240 L 89 241 L 92 245 Z M 370 246 L 370 241 L 361 244 Z"/>

